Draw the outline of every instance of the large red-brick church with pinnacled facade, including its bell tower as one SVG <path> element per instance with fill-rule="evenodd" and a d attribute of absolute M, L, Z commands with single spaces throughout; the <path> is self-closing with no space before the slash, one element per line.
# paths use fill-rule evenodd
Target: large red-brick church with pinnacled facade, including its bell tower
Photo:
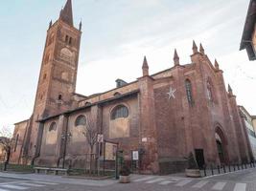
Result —
<path fill-rule="evenodd" d="M 115 89 L 81 96 L 75 93 L 80 43 L 81 24 L 74 26 L 67 0 L 49 24 L 33 115 L 15 124 L 13 163 L 66 167 L 69 162 L 82 168 L 89 123 L 118 143 L 125 160 L 139 151 L 142 173 L 179 171 L 190 152 L 199 166 L 253 159 L 236 96 L 230 86 L 226 91 L 218 62 L 213 64 L 201 45 L 193 42 L 190 64 L 181 65 L 175 51 L 171 68 L 149 74 L 145 57 L 136 80 L 117 79 Z"/>

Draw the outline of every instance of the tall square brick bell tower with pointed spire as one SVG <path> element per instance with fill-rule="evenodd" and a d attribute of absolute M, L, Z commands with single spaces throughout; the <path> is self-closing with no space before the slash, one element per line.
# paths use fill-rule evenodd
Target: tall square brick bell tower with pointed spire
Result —
<path fill-rule="evenodd" d="M 72 1 L 67 0 L 58 20 L 49 24 L 37 84 L 33 116 L 24 145 L 24 155 L 35 157 L 38 119 L 59 114 L 72 108 L 76 90 L 81 43 L 79 29 L 73 25 Z"/>

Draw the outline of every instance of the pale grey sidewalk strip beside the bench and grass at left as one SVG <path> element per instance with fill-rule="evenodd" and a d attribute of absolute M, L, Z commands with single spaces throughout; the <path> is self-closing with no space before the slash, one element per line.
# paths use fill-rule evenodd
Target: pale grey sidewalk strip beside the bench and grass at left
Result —
<path fill-rule="evenodd" d="M 36 181 L 49 181 L 56 183 L 68 183 L 77 185 L 90 185 L 90 186 L 106 186 L 111 185 L 117 180 L 86 180 L 86 179 L 72 179 L 68 177 L 54 176 L 54 175 L 41 175 L 41 174 L 14 174 L 2 173 L 1 178 L 20 179 L 20 180 L 36 180 Z"/>

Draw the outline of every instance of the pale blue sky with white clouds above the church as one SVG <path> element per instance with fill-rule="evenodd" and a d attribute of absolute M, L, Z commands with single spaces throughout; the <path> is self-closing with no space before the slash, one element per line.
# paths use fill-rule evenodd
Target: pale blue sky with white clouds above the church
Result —
<path fill-rule="evenodd" d="M 0 128 L 32 115 L 50 20 L 66 0 L 12 0 L 0 7 Z M 256 62 L 239 46 L 249 0 L 73 0 L 74 24 L 82 21 L 76 92 L 85 96 L 150 73 L 190 63 L 192 41 L 202 43 L 244 105 L 256 115 Z"/>

